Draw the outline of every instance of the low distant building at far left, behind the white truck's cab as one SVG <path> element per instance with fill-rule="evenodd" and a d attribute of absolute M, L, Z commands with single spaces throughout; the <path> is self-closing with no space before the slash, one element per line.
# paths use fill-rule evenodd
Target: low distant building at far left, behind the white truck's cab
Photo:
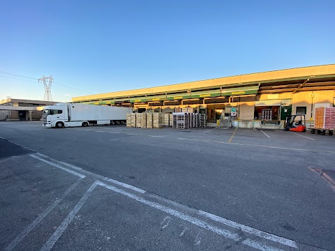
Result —
<path fill-rule="evenodd" d="M 57 102 L 8 98 L 0 101 L 0 121 L 38 121 L 43 107 Z"/>

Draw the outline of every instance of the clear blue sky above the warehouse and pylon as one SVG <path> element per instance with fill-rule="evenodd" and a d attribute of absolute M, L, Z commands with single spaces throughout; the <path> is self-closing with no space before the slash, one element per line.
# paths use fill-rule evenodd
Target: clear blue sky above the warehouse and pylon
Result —
<path fill-rule="evenodd" d="M 335 1 L 16 1 L 0 5 L 0 100 L 335 63 Z M 20 76 L 19 76 L 20 75 Z M 29 78 L 27 78 L 29 77 Z"/>

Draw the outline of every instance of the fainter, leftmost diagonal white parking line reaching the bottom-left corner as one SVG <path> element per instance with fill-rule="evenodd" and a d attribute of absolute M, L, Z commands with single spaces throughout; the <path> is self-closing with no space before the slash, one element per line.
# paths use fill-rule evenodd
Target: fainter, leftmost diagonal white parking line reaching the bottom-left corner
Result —
<path fill-rule="evenodd" d="M 11 241 L 9 243 L 9 245 L 5 248 L 6 251 L 10 251 L 13 250 L 13 248 L 15 248 L 15 246 L 20 243 L 20 241 L 22 241 L 24 239 L 24 237 L 27 236 L 27 234 L 30 233 L 31 230 L 34 229 L 34 227 L 36 227 L 38 225 L 38 223 L 40 223 L 41 220 L 43 220 L 45 218 L 45 216 L 47 216 L 48 213 L 50 213 L 58 204 L 59 202 L 61 202 L 66 195 L 68 195 L 79 183 L 80 181 L 82 181 L 82 178 L 79 178 L 75 183 L 73 183 L 73 185 L 70 186 L 70 188 L 68 188 L 68 190 L 66 190 L 64 192 L 63 195 L 61 195 L 61 197 L 59 199 L 56 199 L 54 201 L 54 203 L 52 203 L 43 213 L 41 213 L 40 215 L 38 215 L 38 217 L 31 222 L 31 224 L 29 224 L 27 227 L 25 227 L 20 234 L 18 234 L 13 241 Z"/>

